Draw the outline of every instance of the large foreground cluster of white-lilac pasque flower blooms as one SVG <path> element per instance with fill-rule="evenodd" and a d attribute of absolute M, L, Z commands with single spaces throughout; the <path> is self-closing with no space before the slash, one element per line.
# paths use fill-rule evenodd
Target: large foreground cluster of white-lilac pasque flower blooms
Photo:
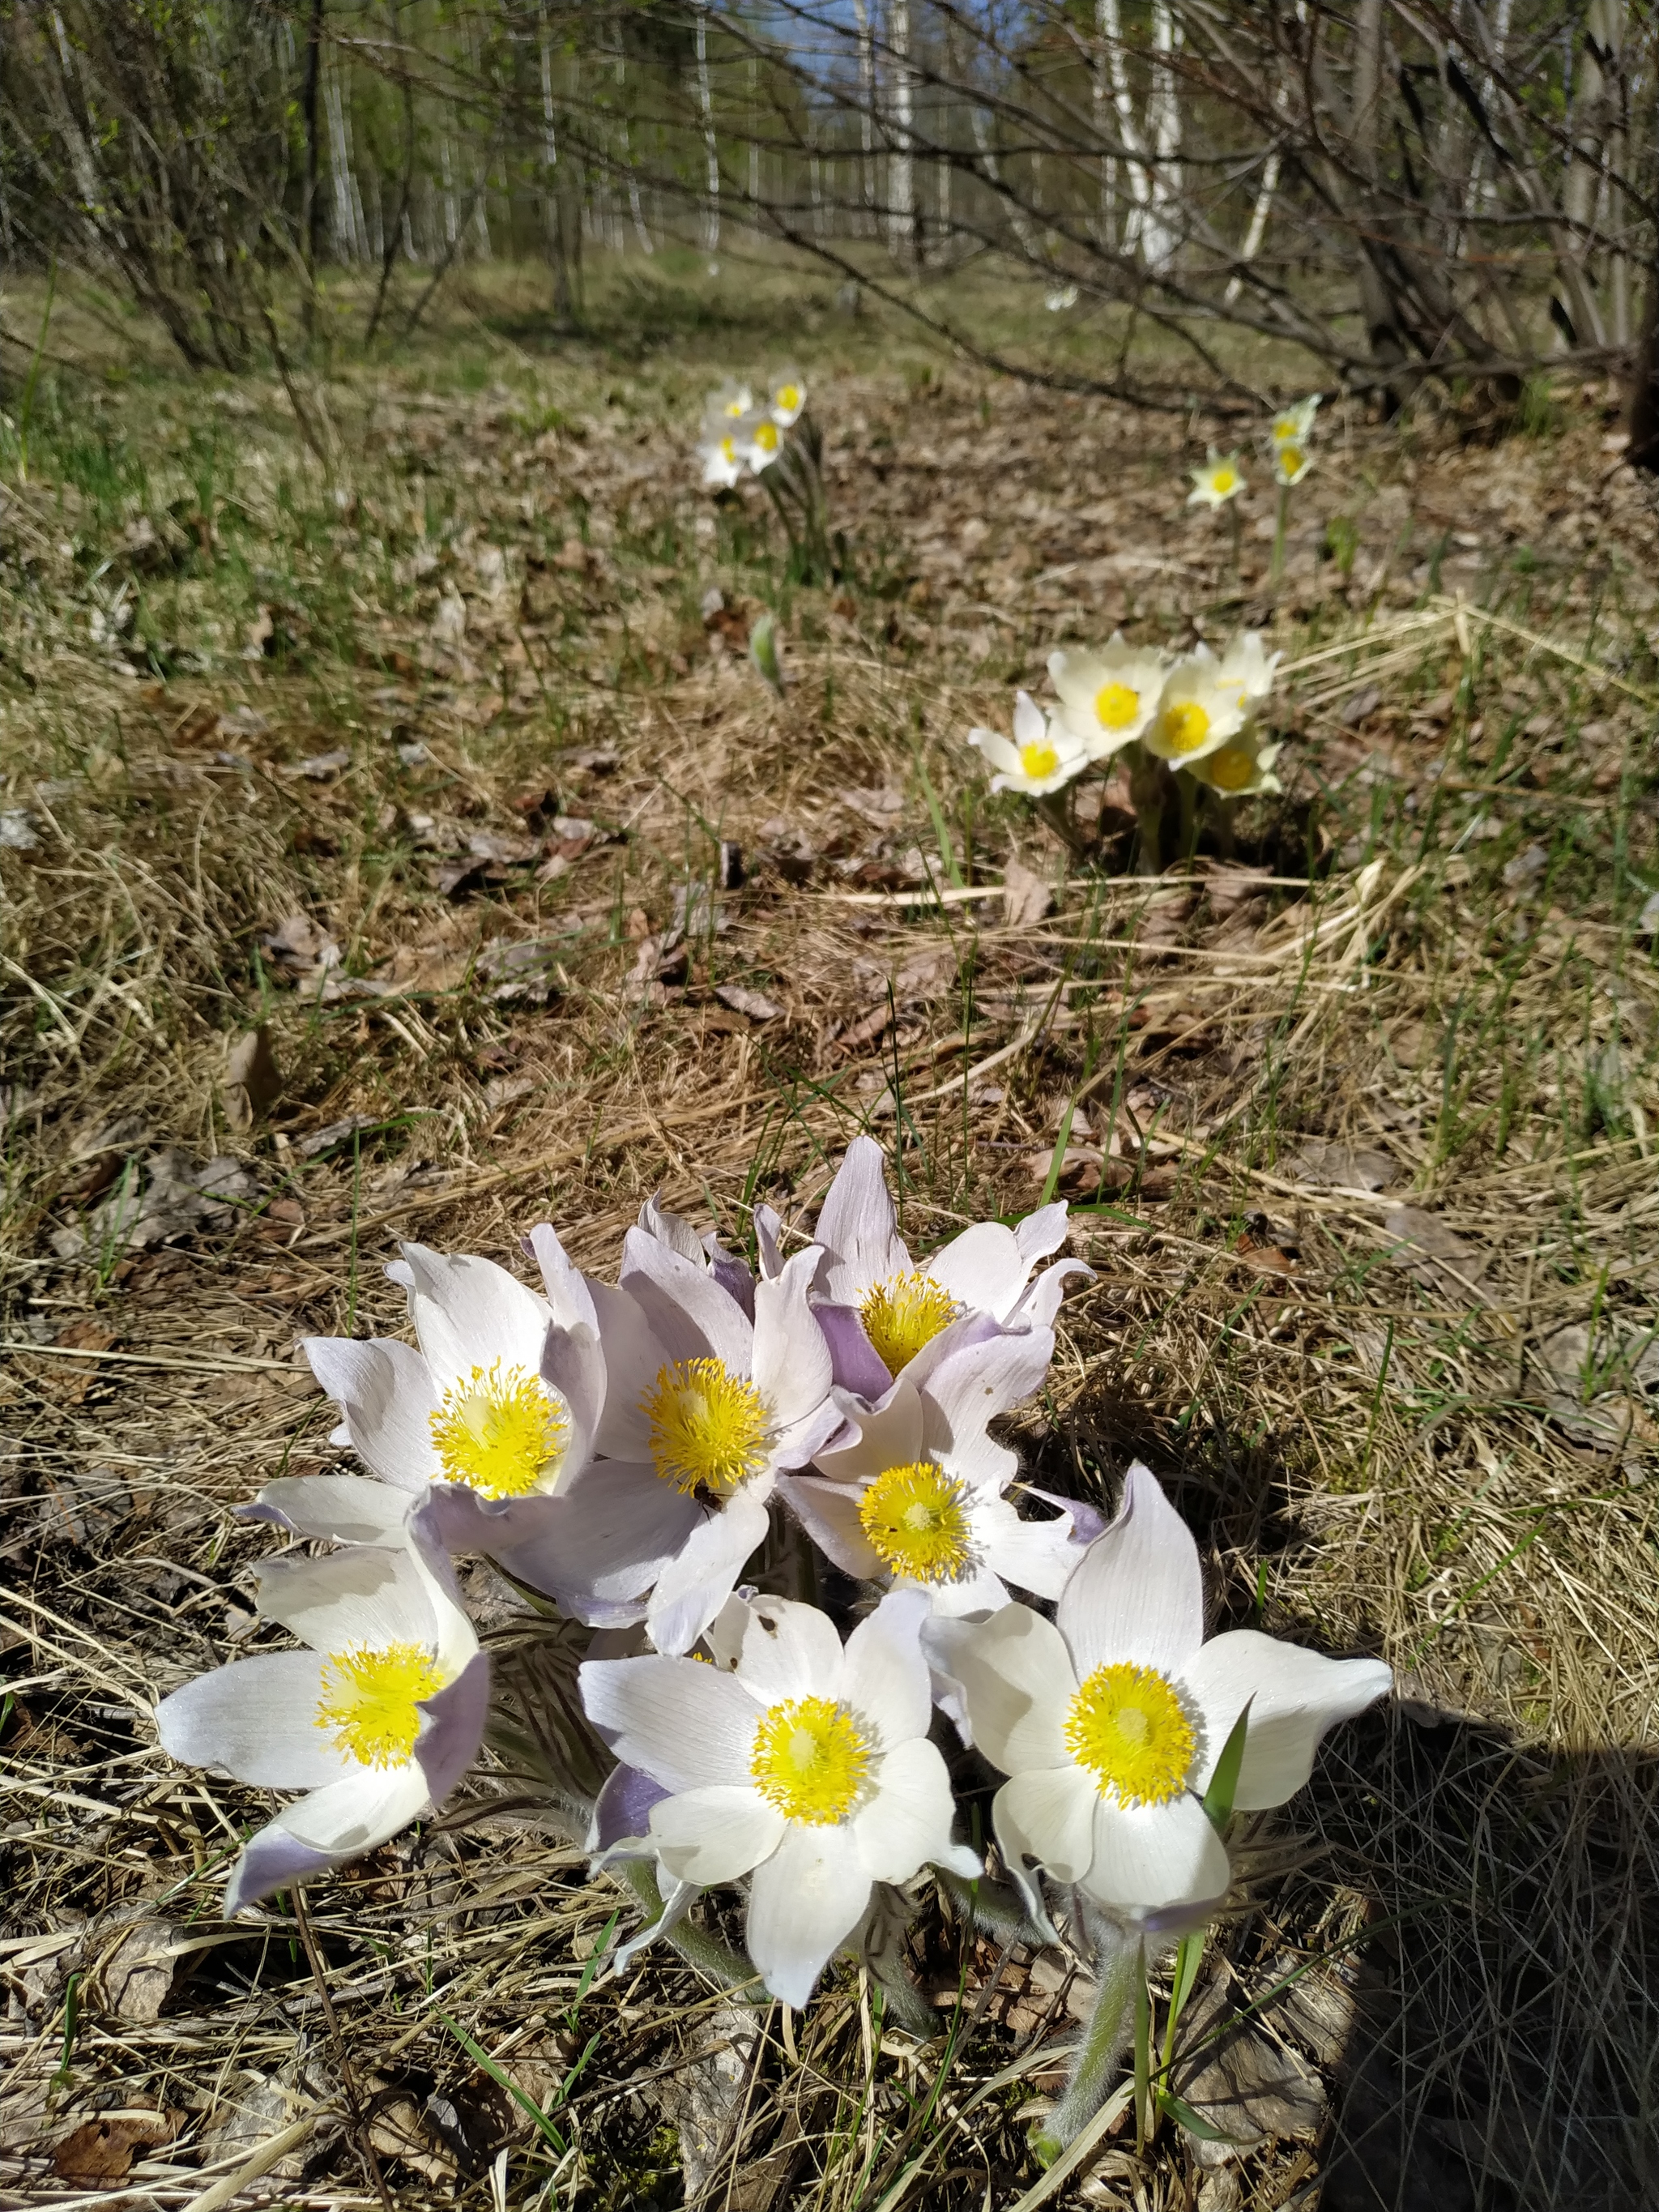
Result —
<path fill-rule="evenodd" d="M 307 1343 L 365 1473 L 283 1478 L 243 1509 L 327 1546 L 261 1571 L 261 1613 L 305 1648 L 157 1714 L 177 1759 L 307 1792 L 243 1849 L 228 1913 L 385 1843 L 478 1759 L 467 1553 L 595 1630 L 580 1694 L 617 1763 L 588 1845 L 655 1863 L 664 1911 L 639 1942 L 748 1882 L 754 1966 L 805 2004 L 876 1882 L 984 1871 L 956 1834 L 951 1734 L 1006 1776 L 993 1834 L 1037 1931 L 1042 1874 L 1121 1924 L 1214 1909 L 1230 1867 L 1203 1792 L 1239 1717 L 1237 1803 L 1274 1805 L 1389 1672 L 1248 1630 L 1206 1644 L 1197 1546 L 1146 1467 L 1110 1524 L 1018 1484 L 991 1422 L 1042 1389 L 1066 1281 L 1088 1274 L 1042 1265 L 1066 1208 L 918 1256 L 883 1166 L 856 1139 L 787 1256 L 754 1208 L 757 1270 L 655 1201 L 615 1283 L 549 1225 L 524 1239 L 540 1290 L 405 1245 L 389 1274 L 414 1343 Z M 858 1586 L 845 1639 L 743 1582 L 779 1526 Z"/>

